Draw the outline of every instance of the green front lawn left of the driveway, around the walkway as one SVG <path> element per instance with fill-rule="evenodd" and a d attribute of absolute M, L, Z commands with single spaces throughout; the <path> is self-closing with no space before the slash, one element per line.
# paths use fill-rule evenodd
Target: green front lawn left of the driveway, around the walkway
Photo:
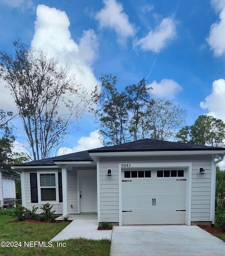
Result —
<path fill-rule="evenodd" d="M 21 247 L 2 248 L 0 246 L 1 256 L 109 256 L 110 254 L 110 241 L 107 239 L 96 241 L 79 238 L 60 241 L 60 243 L 65 243 L 65 247 L 57 247 L 57 242 L 52 242 L 52 247 L 26 247 L 24 241 L 43 241 L 47 246 L 48 242 L 69 223 L 29 223 L 26 221 L 7 223 L 11 220 L 14 220 L 11 216 L 0 214 L 0 242 L 21 241 Z"/>

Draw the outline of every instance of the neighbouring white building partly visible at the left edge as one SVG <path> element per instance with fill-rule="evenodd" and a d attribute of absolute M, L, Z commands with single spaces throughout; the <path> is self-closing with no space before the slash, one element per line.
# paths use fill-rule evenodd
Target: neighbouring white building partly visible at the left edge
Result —
<path fill-rule="evenodd" d="M 3 173 L 5 169 L 0 168 L 0 208 L 14 205 L 16 199 L 15 180 L 12 175 Z"/>

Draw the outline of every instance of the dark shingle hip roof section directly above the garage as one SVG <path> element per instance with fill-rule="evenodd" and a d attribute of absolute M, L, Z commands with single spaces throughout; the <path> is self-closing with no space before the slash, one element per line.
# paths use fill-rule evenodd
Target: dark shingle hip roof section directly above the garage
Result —
<path fill-rule="evenodd" d="M 120 145 L 101 147 L 89 150 L 89 153 L 98 152 L 132 152 L 132 151 L 182 151 L 182 150 L 225 150 L 221 147 L 201 146 L 178 143 L 172 141 L 143 139 Z"/>

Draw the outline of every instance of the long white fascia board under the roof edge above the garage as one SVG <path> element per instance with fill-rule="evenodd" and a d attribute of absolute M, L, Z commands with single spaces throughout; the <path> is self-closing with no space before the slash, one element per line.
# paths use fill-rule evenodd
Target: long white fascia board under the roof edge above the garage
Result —
<path fill-rule="evenodd" d="M 186 150 L 186 151 L 131 151 L 131 152 L 96 152 L 89 153 L 94 157 L 124 157 L 124 156 L 180 156 L 180 155 L 225 155 L 224 150 Z"/>

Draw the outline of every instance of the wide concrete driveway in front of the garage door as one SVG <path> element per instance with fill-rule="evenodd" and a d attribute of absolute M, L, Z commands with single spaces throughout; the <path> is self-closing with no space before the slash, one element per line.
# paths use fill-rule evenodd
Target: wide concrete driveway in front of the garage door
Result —
<path fill-rule="evenodd" d="M 110 256 L 224 256 L 225 243 L 198 226 L 114 226 Z"/>

